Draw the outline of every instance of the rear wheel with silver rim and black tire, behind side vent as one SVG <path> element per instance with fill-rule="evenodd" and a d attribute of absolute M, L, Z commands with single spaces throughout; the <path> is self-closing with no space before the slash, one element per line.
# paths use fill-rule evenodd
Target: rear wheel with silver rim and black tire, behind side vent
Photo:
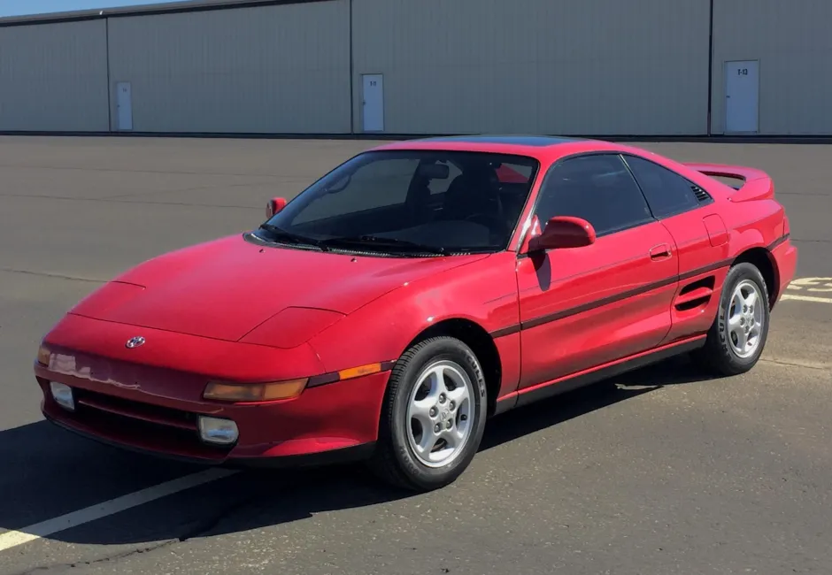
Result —
<path fill-rule="evenodd" d="M 748 372 L 766 347 L 769 318 L 768 290 L 759 269 L 735 265 L 725 279 L 705 347 L 695 357 L 720 375 Z"/>

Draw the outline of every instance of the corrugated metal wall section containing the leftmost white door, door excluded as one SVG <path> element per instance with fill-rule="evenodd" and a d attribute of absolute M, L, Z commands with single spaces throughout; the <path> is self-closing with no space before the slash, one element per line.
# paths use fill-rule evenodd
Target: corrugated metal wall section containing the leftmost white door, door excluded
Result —
<path fill-rule="evenodd" d="M 346 133 L 349 46 L 347 0 L 111 19 L 111 80 L 139 132 Z"/>

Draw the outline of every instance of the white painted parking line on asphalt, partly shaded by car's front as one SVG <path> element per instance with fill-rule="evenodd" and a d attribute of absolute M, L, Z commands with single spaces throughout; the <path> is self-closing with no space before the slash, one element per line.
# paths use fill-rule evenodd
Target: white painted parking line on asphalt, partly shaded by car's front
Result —
<path fill-rule="evenodd" d="M 29 525 L 20 531 L 0 533 L 0 551 L 5 551 L 6 549 L 11 549 L 29 541 L 41 539 L 42 537 L 48 537 L 52 533 L 58 533 L 60 531 L 64 531 L 65 529 L 77 527 L 78 525 L 83 525 L 85 523 L 89 523 L 90 521 L 101 519 L 102 517 L 114 515 L 119 513 L 119 511 L 128 510 L 133 507 L 143 505 L 144 503 L 161 499 L 167 495 L 173 495 L 175 493 L 179 493 L 180 491 L 185 491 L 186 489 L 204 485 L 205 483 L 211 483 L 212 481 L 226 478 L 230 475 L 234 475 L 235 473 L 237 473 L 237 471 L 226 469 L 209 469 L 204 472 L 193 473 L 192 475 L 186 475 L 185 477 L 181 477 L 179 479 L 166 481 L 165 483 L 160 483 L 153 487 L 147 487 L 140 491 L 136 491 L 135 493 L 116 497 L 110 501 L 98 503 L 97 505 L 91 505 L 86 509 L 73 511 L 72 513 L 67 513 L 66 515 L 62 515 L 60 517 L 47 519 L 46 521 L 36 523 L 35 525 Z"/>

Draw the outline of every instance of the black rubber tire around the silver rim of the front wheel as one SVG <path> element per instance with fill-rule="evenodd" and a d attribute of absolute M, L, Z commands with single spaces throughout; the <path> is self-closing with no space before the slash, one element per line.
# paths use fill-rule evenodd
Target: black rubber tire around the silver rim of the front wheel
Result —
<path fill-rule="evenodd" d="M 464 370 L 471 381 L 468 437 L 451 463 L 430 467 L 416 456 L 408 441 L 411 422 L 407 420 L 408 403 L 420 374 L 437 361 L 451 361 Z M 488 392 L 480 362 L 474 351 L 452 337 L 433 337 L 407 349 L 390 374 L 381 407 L 379 439 L 370 468 L 384 481 L 412 491 L 431 491 L 455 481 L 471 463 L 480 447 L 488 406 Z"/>

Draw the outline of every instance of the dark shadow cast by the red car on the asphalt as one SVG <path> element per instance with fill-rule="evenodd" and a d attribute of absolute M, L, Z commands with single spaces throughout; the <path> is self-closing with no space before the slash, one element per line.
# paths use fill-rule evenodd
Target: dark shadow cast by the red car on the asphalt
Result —
<path fill-rule="evenodd" d="M 661 387 L 708 379 L 684 358 L 670 359 L 494 418 L 481 451 Z M 23 531 L 27 525 L 203 469 L 109 448 L 43 421 L 0 432 L 0 461 L 0 489 L 15 494 L 0 506 L 0 529 Z M 388 487 L 360 464 L 239 472 L 48 538 L 104 546 L 189 540 L 430 496 Z"/>

